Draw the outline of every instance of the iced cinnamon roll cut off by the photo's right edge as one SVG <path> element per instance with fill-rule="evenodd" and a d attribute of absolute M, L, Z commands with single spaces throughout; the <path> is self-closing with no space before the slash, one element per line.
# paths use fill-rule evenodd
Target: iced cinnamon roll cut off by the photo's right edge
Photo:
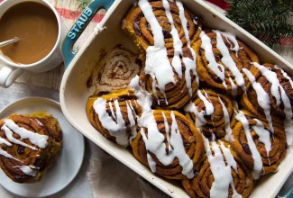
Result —
<path fill-rule="evenodd" d="M 267 121 L 270 130 L 273 126 L 281 126 L 286 131 L 288 145 L 293 142 L 293 81 L 292 77 L 281 68 L 272 64 L 253 63 L 261 75 L 254 77 L 244 70 L 251 85 L 243 94 L 243 107 L 263 121 Z"/>

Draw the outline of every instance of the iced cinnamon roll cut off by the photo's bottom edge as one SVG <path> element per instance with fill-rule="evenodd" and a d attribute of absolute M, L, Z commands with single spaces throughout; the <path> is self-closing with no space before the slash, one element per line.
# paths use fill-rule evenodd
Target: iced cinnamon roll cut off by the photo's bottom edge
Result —
<path fill-rule="evenodd" d="M 251 171 L 224 141 L 206 140 L 206 158 L 195 169 L 195 177 L 182 180 L 191 197 L 249 197 L 255 182 Z"/>

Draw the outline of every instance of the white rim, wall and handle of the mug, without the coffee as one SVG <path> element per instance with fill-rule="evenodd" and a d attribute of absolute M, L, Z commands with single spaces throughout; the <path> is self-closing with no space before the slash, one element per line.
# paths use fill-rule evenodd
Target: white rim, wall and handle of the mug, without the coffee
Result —
<path fill-rule="evenodd" d="M 5 12 L 14 6 L 15 4 L 23 3 L 23 2 L 37 2 L 40 4 L 44 4 L 50 8 L 50 10 L 55 14 L 57 22 L 58 22 L 58 37 L 54 47 L 50 50 L 46 57 L 41 58 L 37 62 L 32 64 L 18 64 L 13 62 L 11 59 L 6 58 L 3 53 L 0 51 L 0 59 L 4 62 L 4 64 L 0 64 L 0 86 L 8 87 L 14 83 L 14 80 L 20 76 L 23 70 L 30 72 L 45 72 L 49 71 L 54 67 L 60 66 L 63 61 L 61 54 L 61 42 L 64 39 L 64 27 L 62 27 L 62 22 L 60 19 L 60 15 L 56 11 L 56 9 L 45 0 L 5 0 L 0 4 L 0 19 Z M 1 31 L 0 31 L 1 33 Z M 0 40 L 4 41 L 4 40 Z"/>

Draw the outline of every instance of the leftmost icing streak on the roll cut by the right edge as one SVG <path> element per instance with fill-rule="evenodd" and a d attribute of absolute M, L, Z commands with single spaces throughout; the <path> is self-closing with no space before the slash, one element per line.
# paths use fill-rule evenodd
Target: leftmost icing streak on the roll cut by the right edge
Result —
<path fill-rule="evenodd" d="M 248 77 L 249 81 L 251 82 L 252 87 L 255 90 L 255 93 L 257 94 L 258 103 L 261 106 L 266 116 L 266 120 L 268 121 L 268 124 L 270 126 L 270 130 L 271 132 L 274 132 L 274 128 L 272 126 L 272 121 L 271 121 L 271 115 L 270 115 L 269 94 L 266 93 L 266 91 L 263 89 L 260 83 L 255 81 L 255 77 L 252 75 L 252 73 L 248 69 L 243 68 L 243 73 Z"/>

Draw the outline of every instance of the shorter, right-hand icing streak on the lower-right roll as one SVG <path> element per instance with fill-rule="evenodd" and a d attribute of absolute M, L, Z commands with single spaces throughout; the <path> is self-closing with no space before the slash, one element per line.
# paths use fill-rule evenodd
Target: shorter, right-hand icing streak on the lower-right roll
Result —
<path fill-rule="evenodd" d="M 267 157 L 270 164 L 270 150 L 271 150 L 271 142 L 270 142 L 270 131 L 266 130 L 262 124 L 261 121 L 258 119 L 254 119 L 256 121 L 256 124 L 252 126 L 252 129 L 256 132 L 256 134 L 259 136 L 259 140 L 261 143 L 264 144 L 264 148 L 267 150 Z"/>

